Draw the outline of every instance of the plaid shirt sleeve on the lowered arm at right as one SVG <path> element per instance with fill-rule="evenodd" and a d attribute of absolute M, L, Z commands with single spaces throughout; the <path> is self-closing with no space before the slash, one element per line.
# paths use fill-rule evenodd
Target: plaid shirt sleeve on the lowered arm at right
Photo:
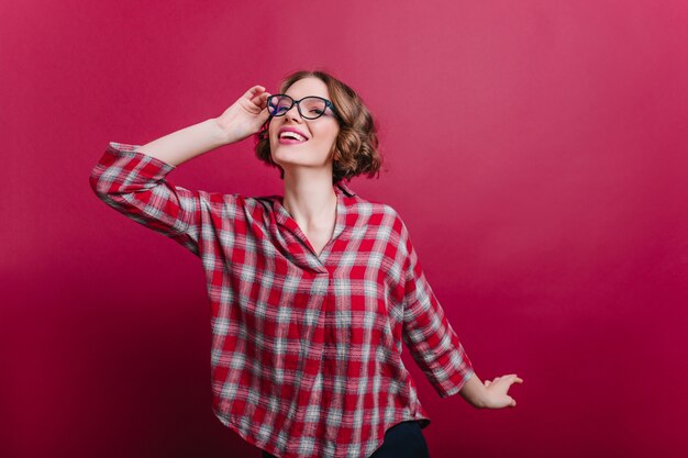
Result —
<path fill-rule="evenodd" d="M 404 223 L 403 342 L 441 398 L 458 393 L 474 375 L 473 365 L 425 279 Z"/>

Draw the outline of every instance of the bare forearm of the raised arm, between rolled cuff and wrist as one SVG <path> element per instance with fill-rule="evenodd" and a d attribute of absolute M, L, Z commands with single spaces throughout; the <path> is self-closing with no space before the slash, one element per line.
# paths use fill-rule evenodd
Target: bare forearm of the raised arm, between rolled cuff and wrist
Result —
<path fill-rule="evenodd" d="M 147 143 L 138 152 L 176 167 L 228 143 L 225 131 L 210 119 Z"/>

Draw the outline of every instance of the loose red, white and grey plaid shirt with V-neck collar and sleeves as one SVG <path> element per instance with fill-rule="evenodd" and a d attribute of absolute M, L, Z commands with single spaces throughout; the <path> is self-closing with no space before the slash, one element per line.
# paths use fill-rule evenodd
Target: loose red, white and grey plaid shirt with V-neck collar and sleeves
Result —
<path fill-rule="evenodd" d="M 212 410 L 278 457 L 370 456 L 397 423 L 430 424 L 402 342 L 440 396 L 473 375 L 389 205 L 335 185 L 318 255 L 280 196 L 189 191 L 176 167 L 110 143 L 90 185 L 103 202 L 200 257 L 211 303 Z"/>

